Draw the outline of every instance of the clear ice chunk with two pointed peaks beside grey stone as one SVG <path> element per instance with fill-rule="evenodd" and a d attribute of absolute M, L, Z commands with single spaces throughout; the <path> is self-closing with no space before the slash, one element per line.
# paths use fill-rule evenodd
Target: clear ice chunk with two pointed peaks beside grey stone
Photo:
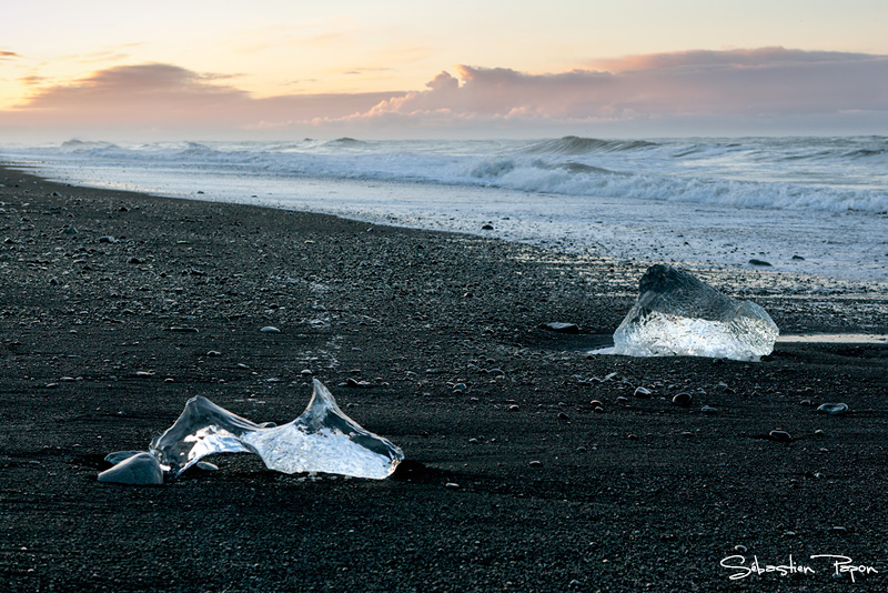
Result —
<path fill-rule="evenodd" d="M 404 453 L 362 429 L 336 405 L 316 379 L 305 411 L 266 428 L 232 414 L 206 398 L 192 398 L 179 420 L 151 442 L 151 453 L 175 476 L 214 453 L 255 453 L 270 470 L 322 472 L 382 480 Z"/>

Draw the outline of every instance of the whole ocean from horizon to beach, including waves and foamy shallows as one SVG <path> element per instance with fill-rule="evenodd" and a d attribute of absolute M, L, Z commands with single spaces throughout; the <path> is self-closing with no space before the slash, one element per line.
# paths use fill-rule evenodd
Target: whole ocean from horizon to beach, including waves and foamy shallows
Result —
<path fill-rule="evenodd" d="M 888 138 L 0 145 L 71 184 L 888 282 Z M 492 227 L 493 229 L 484 229 Z"/>

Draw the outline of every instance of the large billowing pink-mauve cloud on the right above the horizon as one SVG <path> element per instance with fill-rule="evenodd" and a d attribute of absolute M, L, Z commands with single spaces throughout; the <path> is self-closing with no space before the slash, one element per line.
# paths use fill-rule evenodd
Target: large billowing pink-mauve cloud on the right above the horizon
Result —
<path fill-rule="evenodd" d="M 663 118 L 888 115 L 888 57 L 765 48 L 614 61 L 614 72 L 528 74 L 457 66 L 428 90 L 383 101 L 350 120 L 462 118 L 613 121 Z M 888 120 L 882 120 L 888 123 Z M 885 125 L 882 125 L 885 131 Z"/>

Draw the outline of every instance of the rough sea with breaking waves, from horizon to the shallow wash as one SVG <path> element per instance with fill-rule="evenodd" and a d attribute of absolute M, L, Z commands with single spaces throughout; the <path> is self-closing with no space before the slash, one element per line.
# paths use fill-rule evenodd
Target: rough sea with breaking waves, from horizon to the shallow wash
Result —
<path fill-rule="evenodd" d="M 360 148 L 360 150 L 354 150 Z M 740 208 L 888 211 L 888 139 L 332 141 L 114 144 L 26 153 L 60 168 L 501 188 L 539 194 Z M 115 172 L 117 171 L 117 172 Z"/>

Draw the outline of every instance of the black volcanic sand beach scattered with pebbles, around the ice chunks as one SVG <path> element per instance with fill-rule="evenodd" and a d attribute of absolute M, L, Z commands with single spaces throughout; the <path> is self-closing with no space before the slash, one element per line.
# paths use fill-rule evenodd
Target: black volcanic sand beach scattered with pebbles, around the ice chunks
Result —
<path fill-rule="evenodd" d="M 0 183 L 0 591 L 888 586 L 885 344 L 778 343 L 759 363 L 588 355 L 656 263 L 644 254 L 10 170 Z M 888 333 L 886 284 L 693 271 L 784 333 Z M 579 333 L 541 329 L 555 321 Z M 97 481 L 105 454 L 144 450 L 193 395 L 294 419 L 304 370 L 404 450 L 393 478 L 216 455 L 219 471 L 162 486 Z M 851 583 L 815 554 L 872 570 Z M 797 571 L 731 581 L 731 555 Z"/>

